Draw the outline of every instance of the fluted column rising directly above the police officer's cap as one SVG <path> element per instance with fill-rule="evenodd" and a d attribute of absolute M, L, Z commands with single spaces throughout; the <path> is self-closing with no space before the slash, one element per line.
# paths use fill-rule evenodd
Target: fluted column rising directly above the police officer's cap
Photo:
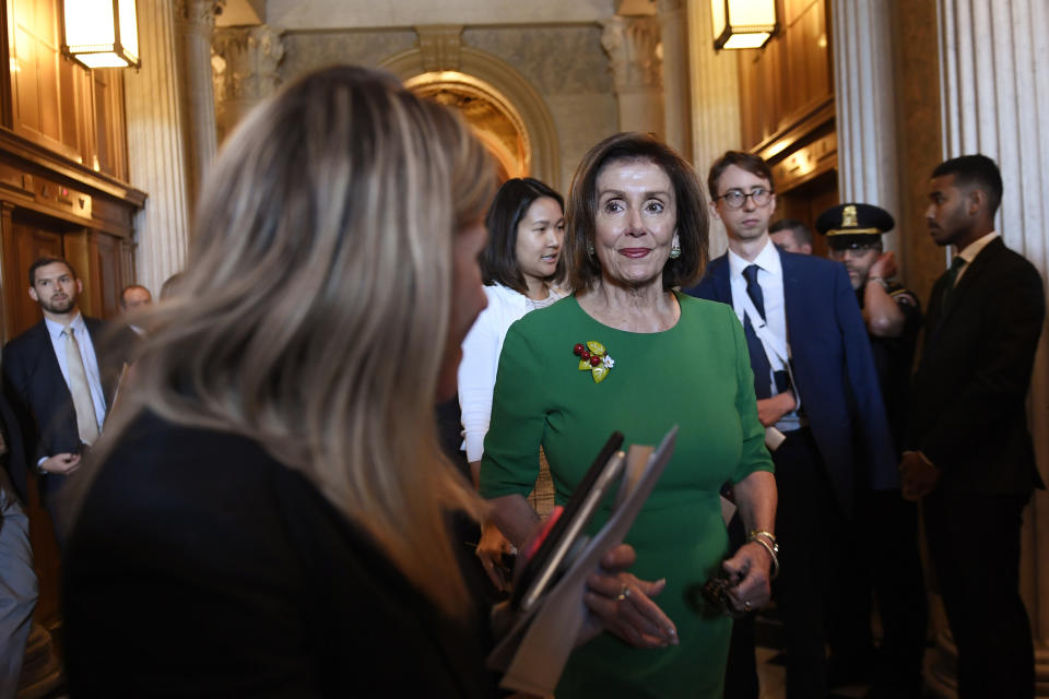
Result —
<path fill-rule="evenodd" d="M 899 218 L 899 158 L 889 3 L 837 0 L 834 80 L 838 192 L 841 201 L 875 204 Z M 899 230 L 884 236 L 899 251 Z"/>

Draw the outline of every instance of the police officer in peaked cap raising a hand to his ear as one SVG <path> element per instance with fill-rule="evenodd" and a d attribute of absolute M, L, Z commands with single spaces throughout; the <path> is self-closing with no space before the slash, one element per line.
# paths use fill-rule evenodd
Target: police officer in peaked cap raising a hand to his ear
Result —
<path fill-rule="evenodd" d="M 845 264 L 856 289 L 894 447 L 899 453 L 922 313 L 914 293 L 892 279 L 896 260 L 893 252 L 884 251 L 882 234 L 894 225 L 884 209 L 860 203 L 834 206 L 816 220 L 816 230 L 827 236 L 830 258 Z M 870 696 L 918 697 L 927 603 L 918 554 L 917 510 L 898 490 L 864 490 L 857 497 L 858 523 L 863 530 L 860 541 L 865 554 L 859 556 L 856 574 L 870 581 L 883 628 Z M 840 654 L 846 667 L 862 663 L 871 648 L 870 609 L 870 596 L 865 595 L 856 609 L 842 611 L 839 631 L 832 633 L 832 657 Z"/>

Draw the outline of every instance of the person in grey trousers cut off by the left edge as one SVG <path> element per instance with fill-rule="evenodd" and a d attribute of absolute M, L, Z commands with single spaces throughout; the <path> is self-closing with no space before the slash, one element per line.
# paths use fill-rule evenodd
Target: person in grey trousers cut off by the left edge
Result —
<path fill-rule="evenodd" d="M 25 502 L 25 453 L 14 412 L 0 394 L 0 699 L 14 699 L 33 626 L 37 583 Z"/>

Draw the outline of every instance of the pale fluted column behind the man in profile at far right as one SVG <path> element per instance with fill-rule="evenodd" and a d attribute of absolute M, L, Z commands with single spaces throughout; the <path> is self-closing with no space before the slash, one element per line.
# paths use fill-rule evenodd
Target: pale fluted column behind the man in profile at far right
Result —
<path fill-rule="evenodd" d="M 1049 277 L 1049 4 L 938 0 L 944 157 L 982 153 L 1002 170 L 995 226 Z M 946 260 L 944 260 L 946 262 Z M 1039 471 L 1049 472 L 1049 362 L 1045 333 L 1028 418 Z M 1036 695 L 1049 697 L 1049 495 L 1024 512 L 1021 588 L 1035 636 Z"/>

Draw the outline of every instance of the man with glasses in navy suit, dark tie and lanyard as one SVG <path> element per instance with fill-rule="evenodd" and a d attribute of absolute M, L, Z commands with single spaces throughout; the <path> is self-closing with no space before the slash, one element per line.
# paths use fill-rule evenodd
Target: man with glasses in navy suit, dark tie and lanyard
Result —
<path fill-rule="evenodd" d="M 842 558 L 863 555 L 851 522 L 857 490 L 899 487 L 888 424 L 845 268 L 779 251 L 769 238 L 768 165 L 730 151 L 708 187 L 729 251 L 687 293 L 730 304 L 743 323 L 779 488 L 782 574 L 773 594 L 787 631 L 787 696 L 823 697 L 835 609 L 861 593 L 838 572 Z"/>

